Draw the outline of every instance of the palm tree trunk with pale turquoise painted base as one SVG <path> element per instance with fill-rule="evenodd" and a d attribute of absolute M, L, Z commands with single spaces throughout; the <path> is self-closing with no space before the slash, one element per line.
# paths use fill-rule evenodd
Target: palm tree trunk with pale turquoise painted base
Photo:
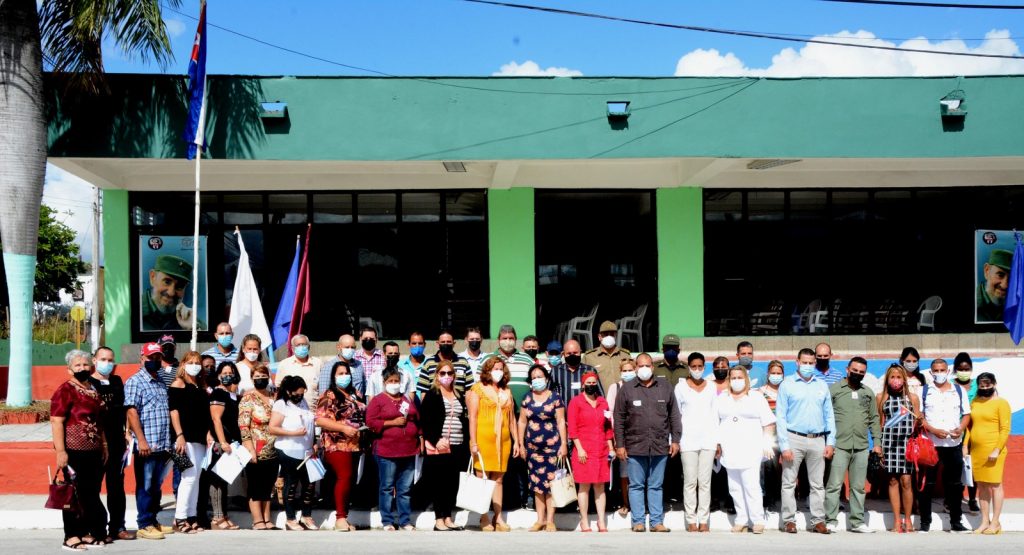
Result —
<path fill-rule="evenodd" d="M 46 175 L 43 65 L 35 0 L 0 1 L 0 233 L 10 294 L 7 404 L 32 402 L 32 290 Z"/>

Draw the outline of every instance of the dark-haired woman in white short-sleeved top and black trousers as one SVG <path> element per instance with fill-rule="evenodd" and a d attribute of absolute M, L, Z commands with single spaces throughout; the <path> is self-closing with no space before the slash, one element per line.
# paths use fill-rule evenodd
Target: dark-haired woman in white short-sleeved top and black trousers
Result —
<path fill-rule="evenodd" d="M 278 400 L 270 413 L 270 433 L 278 436 L 274 449 L 285 478 L 285 529 L 315 530 L 312 510 L 315 497 L 313 483 L 305 461 L 313 449 L 313 415 L 305 399 L 306 381 L 299 376 L 286 376 L 278 388 Z M 301 504 L 300 506 L 297 506 Z M 296 520 L 298 510 L 302 520 Z"/>

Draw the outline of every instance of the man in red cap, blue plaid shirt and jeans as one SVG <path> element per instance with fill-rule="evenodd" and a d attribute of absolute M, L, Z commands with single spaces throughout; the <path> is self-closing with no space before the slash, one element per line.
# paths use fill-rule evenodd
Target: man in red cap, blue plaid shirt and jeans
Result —
<path fill-rule="evenodd" d="M 157 522 L 161 484 L 167 475 L 171 451 L 171 416 L 167 386 L 160 380 L 164 353 L 160 345 L 146 343 L 141 350 L 141 369 L 125 381 L 128 427 L 135 436 L 135 505 L 139 535 L 162 538 L 172 530 Z"/>

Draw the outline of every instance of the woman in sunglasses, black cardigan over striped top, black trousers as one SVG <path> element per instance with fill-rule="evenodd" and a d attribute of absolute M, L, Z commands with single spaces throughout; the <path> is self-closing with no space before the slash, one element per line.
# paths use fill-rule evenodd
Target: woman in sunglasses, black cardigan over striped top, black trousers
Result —
<path fill-rule="evenodd" d="M 469 422 L 466 400 L 456 389 L 455 379 L 452 361 L 438 362 L 430 389 L 420 404 L 427 455 L 423 473 L 432 490 L 434 531 L 462 529 L 452 520 L 452 511 L 459 493 L 459 472 L 466 468 L 469 457 L 466 446 Z"/>

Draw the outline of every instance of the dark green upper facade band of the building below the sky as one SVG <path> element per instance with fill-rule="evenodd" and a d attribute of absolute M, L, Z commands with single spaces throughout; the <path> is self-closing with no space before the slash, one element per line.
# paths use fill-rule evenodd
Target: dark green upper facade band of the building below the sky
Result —
<path fill-rule="evenodd" d="M 259 160 L 929 158 L 1024 155 L 1024 77 L 349 78 L 211 76 L 210 154 Z M 60 98 L 49 156 L 183 158 L 182 76 L 110 75 L 112 94 Z M 967 120 L 939 98 L 962 87 Z M 288 102 L 264 128 L 260 100 Z M 630 100 L 625 129 L 607 100 Z M 348 110 L 346 106 L 355 106 Z"/>

